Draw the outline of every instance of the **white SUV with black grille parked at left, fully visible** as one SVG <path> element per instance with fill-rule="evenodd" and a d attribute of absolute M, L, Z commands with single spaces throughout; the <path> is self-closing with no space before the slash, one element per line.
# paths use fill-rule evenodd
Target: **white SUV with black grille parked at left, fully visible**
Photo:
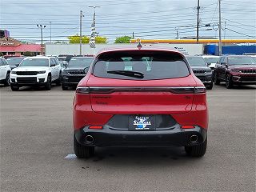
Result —
<path fill-rule="evenodd" d="M 21 86 L 45 86 L 51 89 L 51 83 L 60 85 L 62 70 L 57 58 L 29 57 L 10 73 L 10 88 L 18 90 Z"/>

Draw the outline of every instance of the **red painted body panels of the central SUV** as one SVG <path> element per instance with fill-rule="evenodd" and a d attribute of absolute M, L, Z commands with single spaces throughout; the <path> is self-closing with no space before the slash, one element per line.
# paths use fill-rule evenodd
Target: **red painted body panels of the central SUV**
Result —
<path fill-rule="evenodd" d="M 103 50 L 102 54 L 118 53 L 118 51 L 134 51 L 134 48 Z M 142 48 L 138 51 L 163 51 L 180 54 L 176 50 Z M 182 56 L 184 57 L 184 56 Z M 92 74 L 93 66 L 78 87 L 198 87 L 203 86 L 190 70 L 184 78 L 161 80 L 122 80 L 98 78 Z M 170 114 L 181 126 L 200 126 L 208 128 L 208 110 L 206 93 L 174 94 L 171 92 L 113 92 L 111 94 L 79 94 L 74 97 L 74 130 L 84 126 L 101 126 L 114 114 Z"/>

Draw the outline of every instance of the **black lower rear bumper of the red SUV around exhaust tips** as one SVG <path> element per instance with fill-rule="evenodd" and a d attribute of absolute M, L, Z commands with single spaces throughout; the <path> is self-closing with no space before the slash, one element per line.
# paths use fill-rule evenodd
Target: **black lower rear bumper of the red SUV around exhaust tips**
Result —
<path fill-rule="evenodd" d="M 102 130 L 92 130 L 88 126 L 75 130 L 77 141 L 84 146 L 191 146 L 202 143 L 207 131 L 199 126 L 182 129 L 178 124 L 170 130 L 113 130 L 104 126 Z M 86 136 L 93 142 L 86 142 Z M 190 142 L 190 136 L 197 135 L 197 142 Z"/>

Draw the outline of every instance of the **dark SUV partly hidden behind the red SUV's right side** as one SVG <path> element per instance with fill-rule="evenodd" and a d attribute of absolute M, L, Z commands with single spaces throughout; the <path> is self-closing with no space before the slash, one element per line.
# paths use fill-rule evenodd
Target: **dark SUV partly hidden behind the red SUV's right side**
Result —
<path fill-rule="evenodd" d="M 186 56 L 195 76 L 206 86 L 207 90 L 213 89 L 212 70 L 202 58 L 202 56 Z"/>

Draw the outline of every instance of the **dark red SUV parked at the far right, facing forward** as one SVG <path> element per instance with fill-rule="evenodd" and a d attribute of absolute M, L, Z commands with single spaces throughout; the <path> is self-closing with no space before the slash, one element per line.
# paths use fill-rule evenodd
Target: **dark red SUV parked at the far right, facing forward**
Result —
<path fill-rule="evenodd" d="M 246 55 L 222 56 L 214 69 L 214 83 L 226 82 L 226 88 L 256 85 L 256 61 Z"/>

